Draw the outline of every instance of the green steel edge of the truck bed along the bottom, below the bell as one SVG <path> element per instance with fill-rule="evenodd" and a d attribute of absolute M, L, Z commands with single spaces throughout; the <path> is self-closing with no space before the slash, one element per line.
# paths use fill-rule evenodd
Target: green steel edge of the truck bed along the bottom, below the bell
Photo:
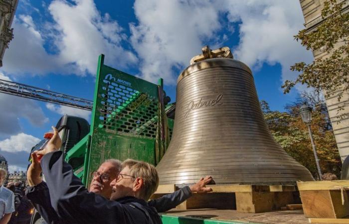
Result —
<path fill-rule="evenodd" d="M 181 217 L 181 216 L 169 216 L 161 215 L 163 224 L 257 224 L 251 222 L 242 221 L 229 221 L 229 220 L 213 220 L 213 219 L 201 219 L 195 217 Z"/>

